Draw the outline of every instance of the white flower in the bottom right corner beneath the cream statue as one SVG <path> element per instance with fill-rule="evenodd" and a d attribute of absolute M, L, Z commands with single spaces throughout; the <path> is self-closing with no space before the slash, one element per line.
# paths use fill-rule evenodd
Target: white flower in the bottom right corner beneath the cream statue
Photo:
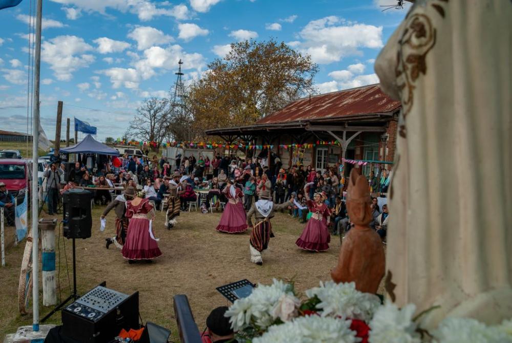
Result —
<path fill-rule="evenodd" d="M 510 343 L 512 337 L 497 327 L 487 327 L 472 318 L 445 318 L 433 331 L 438 343 Z"/>

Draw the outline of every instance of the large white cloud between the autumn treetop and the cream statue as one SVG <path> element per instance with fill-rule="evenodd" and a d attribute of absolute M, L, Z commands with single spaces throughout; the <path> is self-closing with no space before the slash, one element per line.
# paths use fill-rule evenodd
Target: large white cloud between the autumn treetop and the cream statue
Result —
<path fill-rule="evenodd" d="M 378 49 L 382 27 L 347 22 L 328 16 L 309 22 L 300 32 L 304 40 L 298 49 L 317 63 L 332 63 L 350 55 L 362 55 L 359 48 Z"/>

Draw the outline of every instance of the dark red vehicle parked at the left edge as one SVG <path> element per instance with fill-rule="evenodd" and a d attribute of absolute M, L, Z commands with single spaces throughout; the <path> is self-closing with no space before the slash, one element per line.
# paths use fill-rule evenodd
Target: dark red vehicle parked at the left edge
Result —
<path fill-rule="evenodd" d="M 0 159 L 0 181 L 4 182 L 17 202 L 23 202 L 29 189 L 30 168 L 23 159 Z"/>

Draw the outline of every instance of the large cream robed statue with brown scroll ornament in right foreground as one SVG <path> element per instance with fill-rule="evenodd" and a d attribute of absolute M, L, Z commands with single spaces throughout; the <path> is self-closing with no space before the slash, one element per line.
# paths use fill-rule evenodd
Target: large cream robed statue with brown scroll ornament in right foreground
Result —
<path fill-rule="evenodd" d="M 387 289 L 398 306 L 440 306 L 425 328 L 512 317 L 510 18 L 511 1 L 417 0 L 375 63 L 402 103 Z"/>

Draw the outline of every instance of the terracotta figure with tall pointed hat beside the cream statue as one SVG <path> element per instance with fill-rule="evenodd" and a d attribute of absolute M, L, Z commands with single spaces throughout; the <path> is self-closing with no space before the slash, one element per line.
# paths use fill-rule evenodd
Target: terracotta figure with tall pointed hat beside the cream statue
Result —
<path fill-rule="evenodd" d="M 336 283 L 355 282 L 361 292 L 375 294 L 385 271 L 382 241 L 368 224 L 373 220 L 368 180 L 352 169 L 347 189 L 347 212 L 354 227 L 339 249 L 338 265 L 331 271 Z"/>

